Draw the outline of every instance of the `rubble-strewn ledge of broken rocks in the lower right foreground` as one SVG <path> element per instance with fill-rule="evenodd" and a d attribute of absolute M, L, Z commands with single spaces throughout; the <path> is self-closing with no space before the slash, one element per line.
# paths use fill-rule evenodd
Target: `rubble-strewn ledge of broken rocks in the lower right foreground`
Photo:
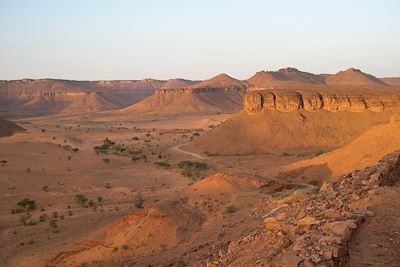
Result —
<path fill-rule="evenodd" d="M 343 266 L 359 225 L 374 216 L 372 196 L 400 180 L 400 151 L 374 167 L 356 170 L 319 190 L 271 198 L 255 211 L 260 229 L 216 248 L 203 266 Z M 308 193 L 307 193 L 308 191 Z"/>

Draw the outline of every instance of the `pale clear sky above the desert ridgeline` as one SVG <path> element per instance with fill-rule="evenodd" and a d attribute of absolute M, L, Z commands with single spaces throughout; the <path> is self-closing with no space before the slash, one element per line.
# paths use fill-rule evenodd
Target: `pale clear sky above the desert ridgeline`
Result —
<path fill-rule="evenodd" d="M 398 0 L 0 0 L 0 79 L 400 76 Z"/>

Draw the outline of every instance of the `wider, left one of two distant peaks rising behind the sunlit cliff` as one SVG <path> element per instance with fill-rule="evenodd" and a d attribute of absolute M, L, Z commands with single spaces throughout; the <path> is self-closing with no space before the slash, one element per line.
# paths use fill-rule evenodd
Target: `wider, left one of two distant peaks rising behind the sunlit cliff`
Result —
<path fill-rule="evenodd" d="M 259 71 L 247 82 L 259 87 L 289 84 L 324 84 L 324 77 L 299 71 L 295 68 L 284 68 L 278 71 Z"/>

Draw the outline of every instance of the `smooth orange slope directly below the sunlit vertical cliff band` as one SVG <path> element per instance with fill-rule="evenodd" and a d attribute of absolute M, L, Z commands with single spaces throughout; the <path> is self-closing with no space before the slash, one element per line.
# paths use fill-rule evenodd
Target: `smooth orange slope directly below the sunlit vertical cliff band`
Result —
<path fill-rule="evenodd" d="M 240 112 L 188 147 L 219 154 L 318 151 L 346 145 L 367 129 L 390 121 L 389 112 Z M 357 127 L 355 127 L 357 125 Z"/>

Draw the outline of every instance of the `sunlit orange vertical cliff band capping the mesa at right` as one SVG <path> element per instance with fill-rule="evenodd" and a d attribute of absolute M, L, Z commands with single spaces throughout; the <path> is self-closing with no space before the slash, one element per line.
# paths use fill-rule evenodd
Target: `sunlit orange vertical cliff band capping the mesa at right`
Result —
<path fill-rule="evenodd" d="M 255 90 L 244 97 L 244 110 L 257 113 L 263 110 L 292 112 L 306 111 L 350 111 L 365 110 L 381 112 L 400 108 L 400 94 L 390 95 L 344 95 L 329 93 L 300 93 L 293 91 Z"/>

